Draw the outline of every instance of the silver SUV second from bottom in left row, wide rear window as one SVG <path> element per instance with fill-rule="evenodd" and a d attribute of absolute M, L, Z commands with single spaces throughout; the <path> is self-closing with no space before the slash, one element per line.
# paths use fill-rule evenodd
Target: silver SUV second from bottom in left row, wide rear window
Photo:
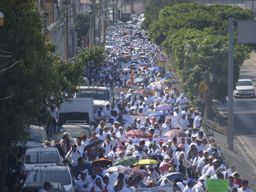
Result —
<path fill-rule="evenodd" d="M 64 165 L 67 162 L 67 159 L 63 160 L 60 156 L 55 146 L 29 147 L 17 162 L 20 165 L 19 180 L 25 180 L 28 172 L 35 165 Z"/>

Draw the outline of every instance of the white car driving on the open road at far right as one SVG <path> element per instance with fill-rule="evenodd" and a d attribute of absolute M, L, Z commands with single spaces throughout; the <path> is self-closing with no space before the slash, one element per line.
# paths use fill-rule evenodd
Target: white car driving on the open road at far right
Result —
<path fill-rule="evenodd" d="M 255 87 L 251 79 L 239 79 L 234 90 L 234 97 L 252 97 L 255 98 Z"/>

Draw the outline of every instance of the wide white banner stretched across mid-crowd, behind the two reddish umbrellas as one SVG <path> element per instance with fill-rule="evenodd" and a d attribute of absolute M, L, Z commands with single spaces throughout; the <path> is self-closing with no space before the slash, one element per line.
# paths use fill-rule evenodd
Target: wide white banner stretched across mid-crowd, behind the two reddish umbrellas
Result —
<path fill-rule="evenodd" d="M 123 117 L 124 117 L 123 119 L 125 119 L 127 121 L 127 123 L 132 125 L 132 123 L 134 123 L 134 119 L 138 119 L 138 118 L 140 118 L 141 123 L 144 123 L 146 121 L 147 116 L 123 115 Z M 151 119 L 152 117 L 149 117 L 149 118 Z M 182 130 L 182 124 L 181 124 L 181 121 L 180 121 L 180 119 L 181 119 L 180 116 L 165 116 L 165 119 L 167 119 L 167 118 L 172 119 L 172 127 L 173 128 L 179 127 L 180 130 Z M 156 119 L 157 119 L 157 117 L 156 117 Z"/>

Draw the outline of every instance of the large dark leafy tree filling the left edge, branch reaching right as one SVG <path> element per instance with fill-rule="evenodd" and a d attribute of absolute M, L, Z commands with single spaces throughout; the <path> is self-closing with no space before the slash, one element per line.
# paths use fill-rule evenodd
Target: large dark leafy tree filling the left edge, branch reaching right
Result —
<path fill-rule="evenodd" d="M 0 7 L 4 14 L 4 26 L 0 27 L 0 191 L 4 191 L 7 156 L 28 136 L 23 127 L 47 122 L 49 106 L 59 106 L 67 100 L 65 93 L 76 92 L 84 66 L 90 60 L 99 63 L 103 55 L 98 48 L 91 48 L 84 51 L 88 56 L 77 62 L 76 58 L 69 63 L 60 55 L 52 57 L 56 46 L 46 44 L 33 0 L 0 1 Z"/>

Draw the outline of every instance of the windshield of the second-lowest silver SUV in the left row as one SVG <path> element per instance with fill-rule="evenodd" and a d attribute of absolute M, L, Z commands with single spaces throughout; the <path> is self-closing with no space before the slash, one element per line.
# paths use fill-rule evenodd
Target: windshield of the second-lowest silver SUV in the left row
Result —
<path fill-rule="evenodd" d="M 57 163 L 60 158 L 57 151 L 31 151 L 27 153 L 25 163 Z"/>

